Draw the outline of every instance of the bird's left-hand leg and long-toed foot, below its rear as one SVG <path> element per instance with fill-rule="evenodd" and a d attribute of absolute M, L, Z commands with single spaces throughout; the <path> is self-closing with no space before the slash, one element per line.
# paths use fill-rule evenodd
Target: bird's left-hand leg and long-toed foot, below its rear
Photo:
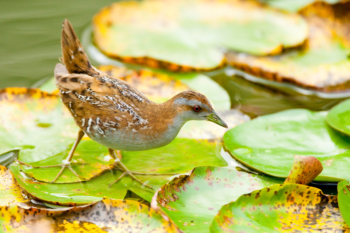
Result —
<path fill-rule="evenodd" d="M 77 138 L 75 139 L 75 142 L 74 142 L 74 144 L 73 144 L 73 146 L 72 146 L 72 148 L 71 148 L 71 150 L 70 150 L 70 152 L 69 152 L 69 154 L 68 154 L 68 157 L 67 157 L 66 159 L 62 160 L 62 162 L 63 162 L 62 164 L 48 165 L 48 166 L 32 166 L 32 165 L 27 164 L 27 163 L 24 163 L 24 162 L 22 162 L 22 161 L 20 161 L 20 160 L 15 160 L 15 161 L 19 162 L 19 163 L 22 164 L 22 165 L 25 165 L 25 166 L 28 166 L 28 167 L 33 167 L 33 168 L 62 167 L 61 170 L 58 172 L 57 176 L 55 177 L 55 179 L 51 181 L 51 183 L 55 182 L 55 181 L 58 179 L 58 177 L 62 174 L 64 168 L 66 168 L 66 167 L 68 167 L 69 170 L 71 170 L 71 172 L 72 172 L 74 175 L 76 175 L 76 176 L 79 177 L 80 179 L 85 180 L 84 177 L 78 175 L 78 174 L 75 172 L 75 170 L 70 166 L 71 160 L 72 160 L 72 157 L 73 157 L 73 154 L 74 154 L 74 151 L 75 151 L 75 149 L 77 148 L 77 146 L 78 146 L 80 140 L 83 138 L 83 136 L 84 136 L 84 131 L 83 131 L 83 130 L 79 130 L 78 136 L 77 136 Z M 77 164 L 77 163 L 75 163 L 75 164 Z"/>

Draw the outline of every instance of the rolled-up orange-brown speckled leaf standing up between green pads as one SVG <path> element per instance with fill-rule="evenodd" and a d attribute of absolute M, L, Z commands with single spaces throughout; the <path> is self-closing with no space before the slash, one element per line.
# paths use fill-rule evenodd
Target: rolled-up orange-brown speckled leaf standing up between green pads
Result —
<path fill-rule="evenodd" d="M 294 155 L 292 169 L 284 183 L 309 184 L 323 170 L 320 160 L 314 156 Z"/>

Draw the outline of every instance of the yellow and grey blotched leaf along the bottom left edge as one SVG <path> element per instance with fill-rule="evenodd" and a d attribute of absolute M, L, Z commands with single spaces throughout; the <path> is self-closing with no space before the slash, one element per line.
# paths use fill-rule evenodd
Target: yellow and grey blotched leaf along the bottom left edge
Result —
<path fill-rule="evenodd" d="M 1 230 L 5 232 L 180 232 L 159 211 L 136 201 L 104 199 L 63 210 L 1 207 Z"/>

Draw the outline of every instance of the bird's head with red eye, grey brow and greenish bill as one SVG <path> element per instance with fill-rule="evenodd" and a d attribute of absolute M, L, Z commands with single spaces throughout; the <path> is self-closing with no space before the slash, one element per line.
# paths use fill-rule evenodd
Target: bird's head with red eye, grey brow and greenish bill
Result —
<path fill-rule="evenodd" d="M 175 95 L 173 98 L 177 113 L 185 121 L 211 121 L 225 128 L 226 123 L 216 114 L 207 97 L 198 92 L 186 91 Z"/>

